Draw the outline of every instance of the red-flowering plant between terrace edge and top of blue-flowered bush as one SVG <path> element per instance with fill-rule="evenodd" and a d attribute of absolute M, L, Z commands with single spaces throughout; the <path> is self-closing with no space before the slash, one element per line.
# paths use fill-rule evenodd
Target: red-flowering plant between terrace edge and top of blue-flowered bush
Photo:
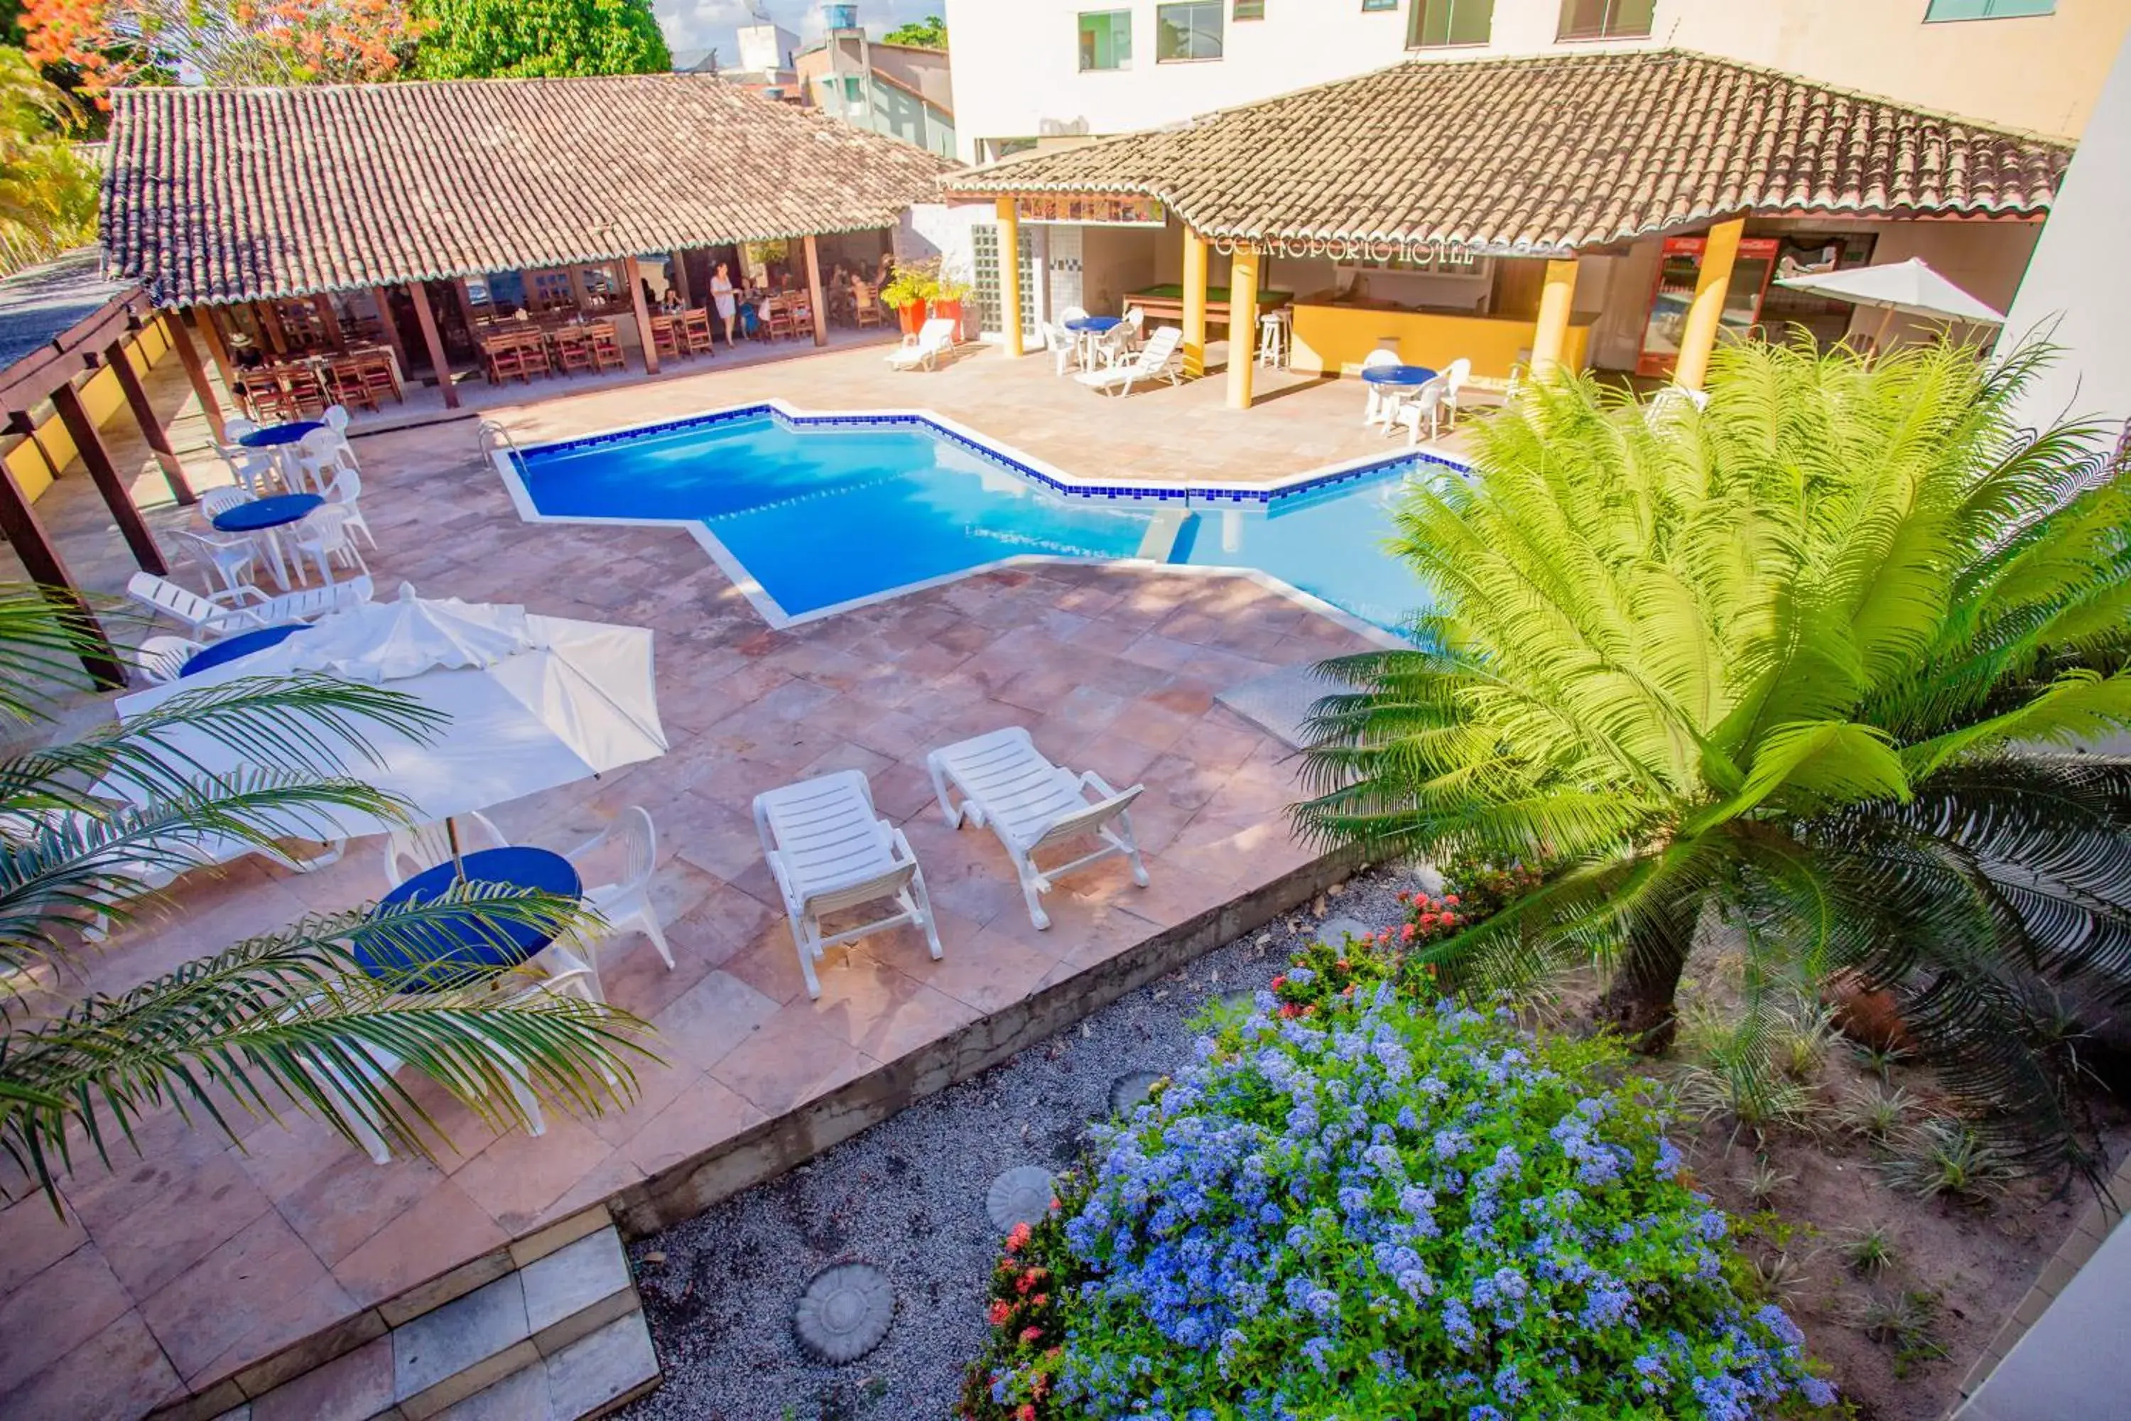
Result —
<path fill-rule="evenodd" d="M 1404 922 L 1302 948 L 1289 969 L 1272 978 L 1281 1016 L 1315 1016 L 1332 1003 L 1366 999 L 1379 982 L 1392 982 L 1409 997 L 1441 997 L 1449 984 L 1428 948 L 1485 922 L 1541 882 L 1543 876 L 1522 863 L 1498 867 L 1481 859 L 1451 859 L 1443 865 L 1441 895 L 1398 895 Z"/>

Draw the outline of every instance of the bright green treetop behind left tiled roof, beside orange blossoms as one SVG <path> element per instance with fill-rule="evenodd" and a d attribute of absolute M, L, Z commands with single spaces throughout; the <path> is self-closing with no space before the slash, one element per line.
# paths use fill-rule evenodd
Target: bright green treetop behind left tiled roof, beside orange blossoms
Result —
<path fill-rule="evenodd" d="M 422 79 L 656 75 L 673 68 L 648 0 L 416 0 Z"/>

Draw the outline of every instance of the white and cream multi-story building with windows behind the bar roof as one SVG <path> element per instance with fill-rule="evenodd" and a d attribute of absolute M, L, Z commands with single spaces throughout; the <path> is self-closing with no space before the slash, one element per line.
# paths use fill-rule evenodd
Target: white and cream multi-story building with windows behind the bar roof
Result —
<path fill-rule="evenodd" d="M 1181 124 L 1404 58 L 1694 49 L 2080 134 L 2127 0 L 946 0 L 961 158 Z"/>

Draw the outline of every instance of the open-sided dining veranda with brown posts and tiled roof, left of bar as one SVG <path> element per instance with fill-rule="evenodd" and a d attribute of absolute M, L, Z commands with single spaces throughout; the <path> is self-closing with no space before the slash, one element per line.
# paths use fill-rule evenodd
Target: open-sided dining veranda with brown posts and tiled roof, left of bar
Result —
<path fill-rule="evenodd" d="M 703 75 L 115 94 L 111 273 L 226 413 L 831 341 L 946 164 Z M 731 328 L 718 266 L 744 309 Z M 207 379 L 241 405 L 224 411 Z"/>

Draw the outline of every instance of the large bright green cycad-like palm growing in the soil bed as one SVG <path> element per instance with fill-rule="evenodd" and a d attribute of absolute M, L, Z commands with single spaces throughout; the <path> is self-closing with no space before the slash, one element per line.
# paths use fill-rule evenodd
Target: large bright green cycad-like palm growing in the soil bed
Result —
<path fill-rule="evenodd" d="M 1330 663 L 1298 824 L 1547 863 L 1441 944 L 1481 989 L 1609 969 L 1645 1050 L 1713 916 L 1899 993 L 1963 1095 L 2067 1150 L 2037 984 L 2131 984 L 2131 494 L 2029 432 L 2041 352 L 1720 356 L 1707 409 L 1536 386 L 1411 492 L 1415 650 Z"/>

